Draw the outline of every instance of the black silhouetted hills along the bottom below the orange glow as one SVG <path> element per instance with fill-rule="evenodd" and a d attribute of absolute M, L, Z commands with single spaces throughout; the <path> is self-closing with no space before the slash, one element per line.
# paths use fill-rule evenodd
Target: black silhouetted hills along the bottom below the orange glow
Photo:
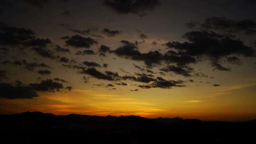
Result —
<path fill-rule="evenodd" d="M 256 144 L 256 120 L 0 115 L 1 144 Z"/>

